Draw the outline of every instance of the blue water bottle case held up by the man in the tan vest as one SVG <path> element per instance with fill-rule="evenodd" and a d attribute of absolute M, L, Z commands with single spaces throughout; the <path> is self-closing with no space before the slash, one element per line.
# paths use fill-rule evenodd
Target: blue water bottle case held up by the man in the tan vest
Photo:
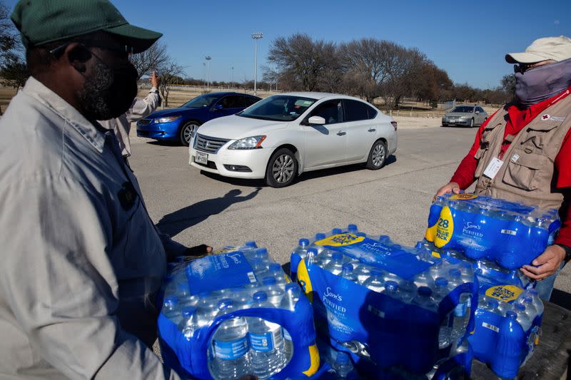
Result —
<path fill-rule="evenodd" d="M 561 222 L 557 210 L 541 210 L 483 195 L 436 197 L 425 238 L 436 247 L 461 249 L 474 260 L 506 269 L 530 264 L 552 242 Z"/>

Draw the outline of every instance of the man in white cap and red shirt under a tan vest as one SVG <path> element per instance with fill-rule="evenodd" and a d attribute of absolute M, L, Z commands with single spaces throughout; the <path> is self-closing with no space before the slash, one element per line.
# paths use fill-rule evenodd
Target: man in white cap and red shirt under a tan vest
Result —
<path fill-rule="evenodd" d="M 475 181 L 477 194 L 559 210 L 555 242 L 520 270 L 549 299 L 555 277 L 571 258 L 571 38 L 539 38 L 515 63 L 515 101 L 482 124 L 450 183 L 435 196 L 458 194 Z"/>

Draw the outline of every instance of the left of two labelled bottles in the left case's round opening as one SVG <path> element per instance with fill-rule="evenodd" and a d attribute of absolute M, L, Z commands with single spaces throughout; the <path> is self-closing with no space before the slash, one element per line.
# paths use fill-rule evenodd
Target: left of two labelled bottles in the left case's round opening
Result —
<path fill-rule="evenodd" d="M 231 299 L 221 299 L 218 307 L 218 316 L 235 310 Z M 236 379 L 252 373 L 246 319 L 236 317 L 220 324 L 212 337 L 212 354 L 216 379 Z"/>

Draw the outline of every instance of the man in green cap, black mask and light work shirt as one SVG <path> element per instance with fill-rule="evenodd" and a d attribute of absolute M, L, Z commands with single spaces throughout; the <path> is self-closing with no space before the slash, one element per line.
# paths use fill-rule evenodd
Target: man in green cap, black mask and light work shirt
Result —
<path fill-rule="evenodd" d="M 161 34 L 106 0 L 21 0 L 31 77 L 0 120 L 0 378 L 178 378 L 149 349 L 166 260 L 112 130 Z"/>

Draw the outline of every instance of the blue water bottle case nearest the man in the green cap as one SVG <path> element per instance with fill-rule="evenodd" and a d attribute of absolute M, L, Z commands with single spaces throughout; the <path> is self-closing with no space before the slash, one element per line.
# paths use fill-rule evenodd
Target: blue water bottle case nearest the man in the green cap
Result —
<path fill-rule="evenodd" d="M 193 379 L 308 378 L 319 367 L 313 310 L 255 242 L 169 265 L 158 317 L 166 364 Z"/>

